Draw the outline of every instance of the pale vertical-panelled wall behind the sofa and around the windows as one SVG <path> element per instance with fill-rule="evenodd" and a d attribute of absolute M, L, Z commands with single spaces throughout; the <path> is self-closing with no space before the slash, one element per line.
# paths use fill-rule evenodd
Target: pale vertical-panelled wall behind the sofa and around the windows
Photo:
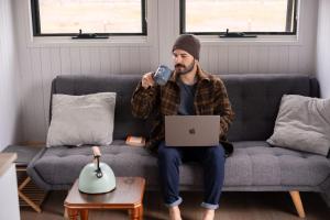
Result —
<path fill-rule="evenodd" d="M 92 46 L 31 43 L 29 0 L 14 0 L 19 31 L 23 141 L 44 141 L 51 80 L 61 74 L 138 74 L 172 64 L 178 35 L 178 1 L 148 0 L 147 44 Z M 211 73 L 315 74 L 317 0 L 301 0 L 300 38 L 296 44 L 202 43 L 200 63 Z"/>

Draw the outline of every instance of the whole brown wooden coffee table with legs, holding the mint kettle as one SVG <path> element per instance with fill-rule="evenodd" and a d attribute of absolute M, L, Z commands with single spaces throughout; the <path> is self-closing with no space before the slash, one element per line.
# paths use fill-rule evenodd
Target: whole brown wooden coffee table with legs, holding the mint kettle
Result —
<path fill-rule="evenodd" d="M 142 177 L 116 177 L 114 190 L 91 195 L 80 193 L 76 180 L 64 201 L 64 207 L 72 220 L 76 220 L 79 215 L 81 220 L 87 220 L 91 209 L 127 209 L 130 219 L 142 220 L 144 187 L 145 179 Z"/>

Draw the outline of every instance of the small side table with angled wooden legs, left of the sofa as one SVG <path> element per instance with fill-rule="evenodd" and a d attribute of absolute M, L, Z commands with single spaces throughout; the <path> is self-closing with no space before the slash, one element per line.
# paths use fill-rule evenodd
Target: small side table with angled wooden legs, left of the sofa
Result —
<path fill-rule="evenodd" d="M 26 174 L 26 167 L 33 157 L 42 150 L 40 146 L 9 145 L 3 153 L 16 153 L 15 160 L 18 174 L 18 193 L 20 206 L 30 206 L 36 212 L 41 212 L 41 205 L 44 201 L 47 191 L 37 188 Z"/>

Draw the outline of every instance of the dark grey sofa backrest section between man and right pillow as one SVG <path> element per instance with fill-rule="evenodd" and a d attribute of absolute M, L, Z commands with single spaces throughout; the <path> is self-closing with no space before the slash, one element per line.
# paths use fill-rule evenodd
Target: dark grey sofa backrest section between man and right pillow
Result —
<path fill-rule="evenodd" d="M 235 120 L 231 141 L 267 140 L 274 130 L 283 95 L 319 97 L 314 77 L 302 75 L 227 75 L 227 86 Z"/>

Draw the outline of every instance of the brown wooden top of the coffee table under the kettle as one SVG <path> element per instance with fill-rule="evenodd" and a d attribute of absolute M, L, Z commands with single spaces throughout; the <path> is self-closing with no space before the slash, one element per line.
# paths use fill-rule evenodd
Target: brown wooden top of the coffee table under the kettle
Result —
<path fill-rule="evenodd" d="M 78 180 L 69 190 L 64 206 L 67 208 L 128 208 L 142 205 L 145 179 L 143 177 L 116 177 L 116 189 L 106 194 L 84 194 Z"/>

